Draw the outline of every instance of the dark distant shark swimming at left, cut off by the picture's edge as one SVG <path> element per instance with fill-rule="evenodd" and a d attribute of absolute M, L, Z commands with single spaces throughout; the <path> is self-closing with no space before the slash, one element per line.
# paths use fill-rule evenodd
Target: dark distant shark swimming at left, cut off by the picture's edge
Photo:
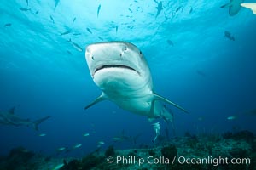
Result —
<path fill-rule="evenodd" d="M 15 116 L 15 107 L 9 109 L 9 111 L 0 111 L 0 124 L 3 125 L 12 125 L 15 127 L 26 126 L 33 127 L 38 131 L 38 125 L 45 120 L 49 119 L 50 116 L 46 116 L 37 121 L 30 121 L 29 119 L 22 119 L 19 116 Z"/>

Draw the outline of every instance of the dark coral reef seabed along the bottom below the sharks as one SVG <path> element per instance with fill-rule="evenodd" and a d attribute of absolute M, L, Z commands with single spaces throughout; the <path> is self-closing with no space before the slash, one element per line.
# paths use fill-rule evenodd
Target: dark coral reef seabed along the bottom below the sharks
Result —
<path fill-rule="evenodd" d="M 154 145 L 154 147 L 147 146 L 141 149 L 114 150 L 113 145 L 110 145 L 107 150 L 96 150 L 79 159 L 41 156 L 23 147 L 18 147 L 10 150 L 9 156 L 0 157 L 0 170 L 254 170 L 256 167 L 255 147 L 255 136 L 248 131 L 201 136 L 187 133 L 185 137 L 172 139 L 168 144 Z M 110 159 L 108 160 L 109 157 Z M 232 164 L 218 162 L 219 160 L 214 161 L 217 158 L 226 158 L 228 160 L 239 158 L 240 160 L 238 161 L 240 163 Z M 247 162 L 241 163 L 242 158 L 247 158 Z M 193 159 L 194 161 L 192 161 Z M 207 159 L 208 161 L 206 161 Z"/>

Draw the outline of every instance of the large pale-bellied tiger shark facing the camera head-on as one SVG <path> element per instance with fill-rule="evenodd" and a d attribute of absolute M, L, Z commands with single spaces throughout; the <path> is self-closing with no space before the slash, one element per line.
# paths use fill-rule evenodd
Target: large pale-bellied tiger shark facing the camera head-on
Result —
<path fill-rule="evenodd" d="M 108 99 L 126 111 L 148 116 L 149 121 L 163 118 L 172 122 L 172 114 L 162 102 L 188 112 L 154 92 L 148 63 L 142 51 L 130 42 L 90 44 L 86 48 L 85 59 L 90 76 L 102 90 L 102 94 L 85 110 Z"/>

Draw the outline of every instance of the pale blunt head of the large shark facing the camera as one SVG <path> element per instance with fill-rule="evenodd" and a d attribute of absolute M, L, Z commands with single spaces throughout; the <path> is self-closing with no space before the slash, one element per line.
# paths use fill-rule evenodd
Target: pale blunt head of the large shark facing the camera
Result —
<path fill-rule="evenodd" d="M 151 84 L 148 64 L 129 42 L 98 42 L 86 48 L 90 75 L 99 88 L 140 88 Z M 150 83 L 148 83 L 150 82 Z"/>

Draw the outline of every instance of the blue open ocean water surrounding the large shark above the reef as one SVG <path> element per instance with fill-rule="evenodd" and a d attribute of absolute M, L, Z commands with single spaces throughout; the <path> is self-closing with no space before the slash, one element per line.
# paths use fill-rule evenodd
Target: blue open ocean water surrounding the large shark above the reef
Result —
<path fill-rule="evenodd" d="M 0 154 L 20 145 L 52 154 L 60 147 L 82 144 L 68 156 L 96 150 L 99 141 L 104 141 L 103 148 L 152 145 L 155 133 L 147 117 L 123 111 L 110 101 L 84 111 L 102 93 L 90 77 L 84 49 L 105 41 L 131 42 L 140 48 L 154 91 L 189 111 L 168 105 L 174 112 L 176 136 L 242 129 L 255 133 L 256 116 L 247 113 L 256 108 L 256 15 L 241 8 L 230 16 L 228 8 L 219 8 L 225 3 L 162 1 L 156 17 L 154 0 L 3 0 L 0 111 L 17 106 L 15 115 L 24 119 L 52 117 L 39 125 L 38 132 L 0 125 Z M 235 41 L 224 37 L 225 31 Z M 161 134 L 168 128 L 174 136 L 171 124 L 154 122 L 160 122 Z M 113 137 L 124 133 L 141 134 L 137 145 L 113 143 Z"/>

